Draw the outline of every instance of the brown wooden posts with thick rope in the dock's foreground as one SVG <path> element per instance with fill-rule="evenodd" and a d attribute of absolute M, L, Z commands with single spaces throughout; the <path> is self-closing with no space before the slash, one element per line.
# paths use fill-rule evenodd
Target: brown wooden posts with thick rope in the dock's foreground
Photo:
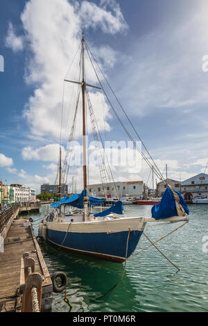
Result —
<path fill-rule="evenodd" d="M 20 272 L 21 312 L 40 312 L 42 300 L 42 276 L 35 272 L 35 259 L 28 252 L 21 259 Z"/>

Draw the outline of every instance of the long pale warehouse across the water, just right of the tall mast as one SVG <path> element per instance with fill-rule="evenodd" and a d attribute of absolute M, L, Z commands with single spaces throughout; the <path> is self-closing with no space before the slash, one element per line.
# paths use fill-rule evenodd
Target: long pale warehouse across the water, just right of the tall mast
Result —
<path fill-rule="evenodd" d="M 116 186 L 115 186 L 116 185 Z M 102 197 L 104 195 L 116 196 L 116 188 L 119 193 L 119 197 L 128 195 L 130 197 L 142 197 L 144 194 L 143 181 L 125 181 L 125 182 L 110 182 L 106 185 L 104 191 L 103 184 L 92 184 L 87 187 L 89 195 Z"/>

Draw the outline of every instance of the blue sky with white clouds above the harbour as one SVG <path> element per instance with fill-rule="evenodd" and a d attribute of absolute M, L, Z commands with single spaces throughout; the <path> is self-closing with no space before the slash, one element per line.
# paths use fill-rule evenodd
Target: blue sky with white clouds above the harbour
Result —
<path fill-rule="evenodd" d="M 63 157 L 75 108 L 76 89 L 66 85 L 64 77 L 78 77 L 78 56 L 74 62 L 73 58 L 82 32 L 161 172 L 168 164 L 168 177 L 181 181 L 205 172 L 207 0 L 1 0 L 0 6 L 3 182 L 26 184 L 37 193 L 41 184 L 54 183 L 62 108 Z M 98 85 L 86 60 L 87 81 Z M 101 81 L 105 83 L 102 76 Z M 101 92 L 89 92 L 103 138 L 127 142 L 128 136 Z M 116 110 L 130 129 L 119 106 Z M 77 137 L 80 116 L 78 122 Z M 130 133 L 135 136 L 131 129 Z M 121 156 L 126 153 L 118 151 Z M 150 168 L 131 160 L 135 163 L 131 166 L 112 166 L 115 181 L 146 182 Z M 80 188 L 81 174 L 78 167 Z M 90 166 L 89 183 L 100 182 L 98 169 Z"/>

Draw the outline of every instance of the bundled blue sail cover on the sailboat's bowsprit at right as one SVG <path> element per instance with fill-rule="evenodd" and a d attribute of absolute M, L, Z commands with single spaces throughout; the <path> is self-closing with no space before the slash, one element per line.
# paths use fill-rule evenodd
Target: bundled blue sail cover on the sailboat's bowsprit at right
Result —
<path fill-rule="evenodd" d="M 180 198 L 180 204 L 183 206 L 184 211 L 189 214 L 189 209 L 187 204 L 184 202 L 182 195 L 177 191 L 174 190 L 175 193 Z M 175 208 L 175 198 L 173 193 L 171 192 L 170 188 L 167 188 L 164 194 L 162 195 L 161 202 L 156 204 L 152 208 L 152 217 L 155 220 L 161 220 L 162 218 L 172 218 L 173 216 L 177 216 L 177 210 Z"/>

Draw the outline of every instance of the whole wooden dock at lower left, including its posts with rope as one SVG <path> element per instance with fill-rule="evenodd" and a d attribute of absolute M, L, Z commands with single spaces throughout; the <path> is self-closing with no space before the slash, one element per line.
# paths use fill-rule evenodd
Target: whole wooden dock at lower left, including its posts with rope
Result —
<path fill-rule="evenodd" d="M 0 252 L 0 312 L 50 312 L 53 301 L 51 276 L 34 234 L 33 219 L 30 215 L 24 219 L 19 217 L 23 208 L 23 205 L 17 205 L 6 213 L 0 213 L 0 235 L 3 239 Z M 36 303 L 32 303 L 32 288 L 37 291 Z"/>

